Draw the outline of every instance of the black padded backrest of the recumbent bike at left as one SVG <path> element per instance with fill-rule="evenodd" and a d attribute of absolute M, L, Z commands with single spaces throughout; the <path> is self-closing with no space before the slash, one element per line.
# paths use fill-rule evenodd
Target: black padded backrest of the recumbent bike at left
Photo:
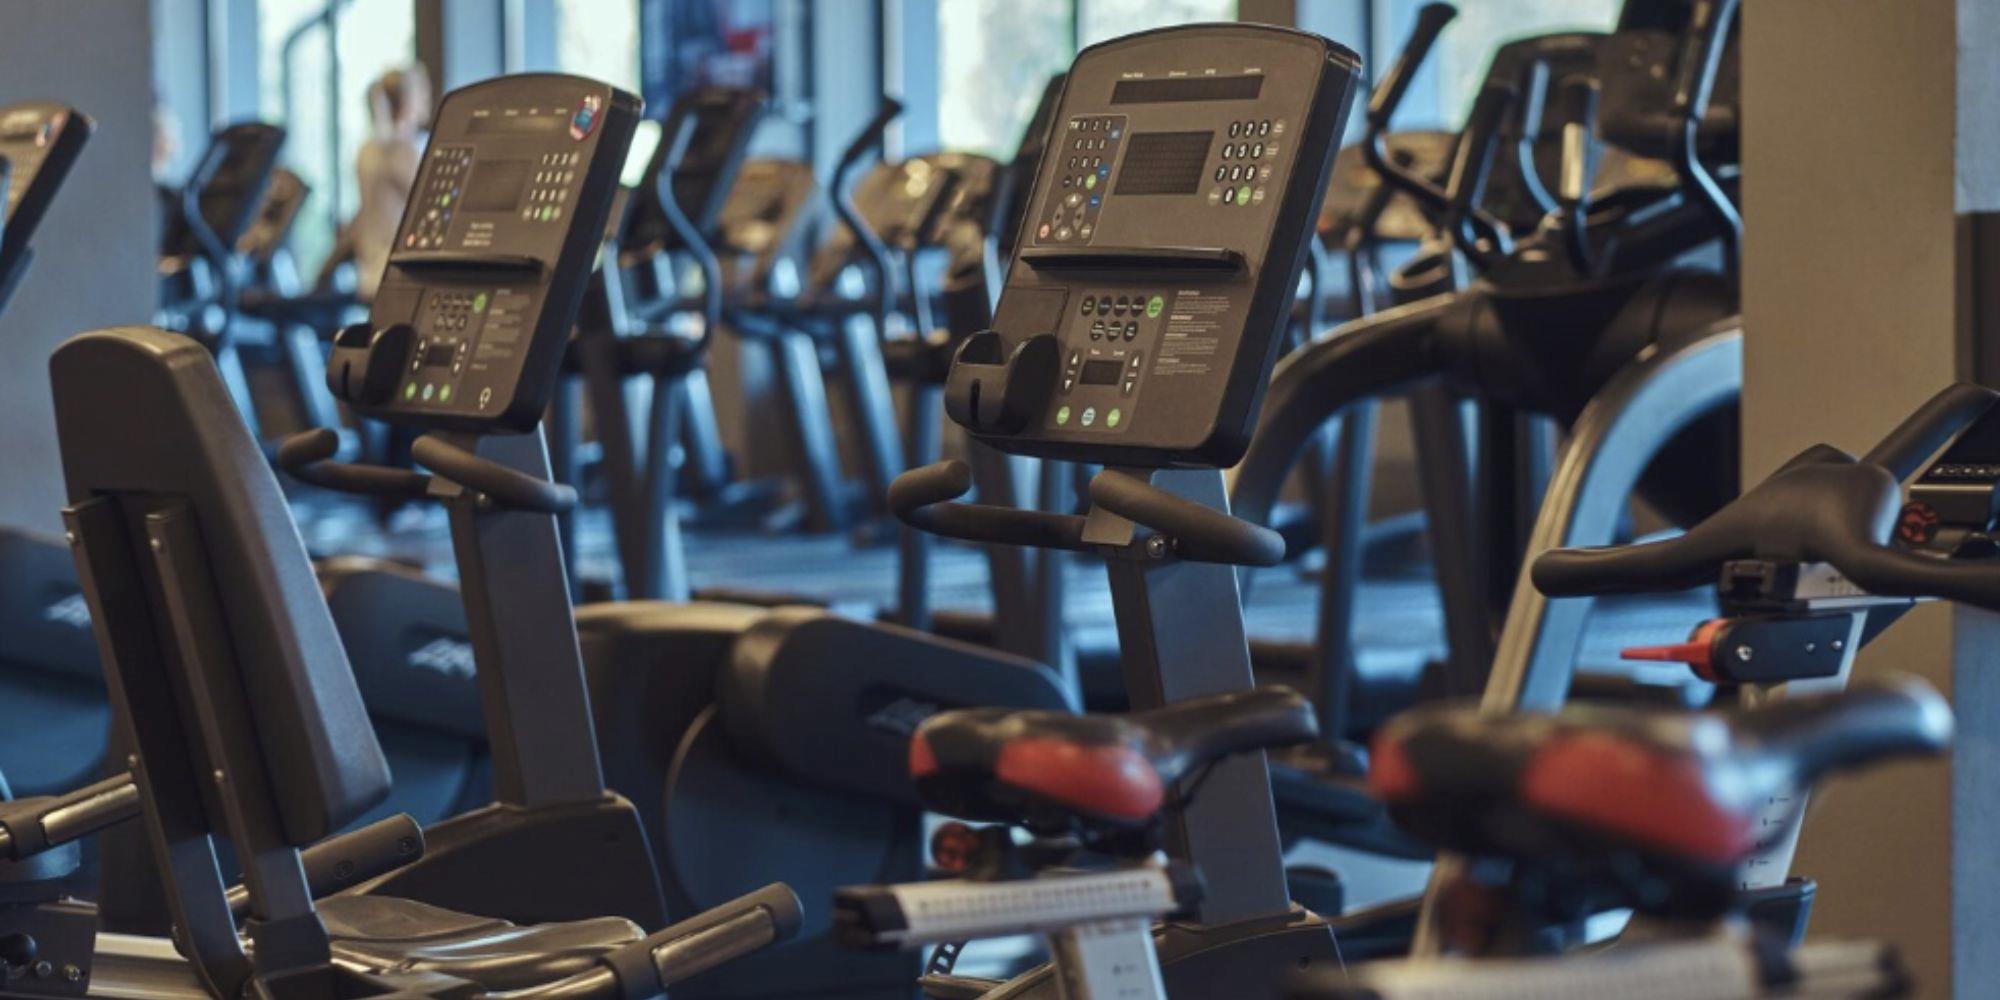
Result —
<path fill-rule="evenodd" d="M 268 794 L 292 846 L 380 802 L 388 764 L 306 546 L 208 350 L 154 328 L 100 330 L 62 344 L 50 378 L 72 506 L 114 498 L 194 512 L 252 730 L 220 736 L 258 748 L 268 774 L 264 790 L 232 782 L 230 792 Z M 122 626 L 166 636 L 172 618 L 152 612 L 150 624 Z M 198 730 L 184 720 L 184 732 Z"/>

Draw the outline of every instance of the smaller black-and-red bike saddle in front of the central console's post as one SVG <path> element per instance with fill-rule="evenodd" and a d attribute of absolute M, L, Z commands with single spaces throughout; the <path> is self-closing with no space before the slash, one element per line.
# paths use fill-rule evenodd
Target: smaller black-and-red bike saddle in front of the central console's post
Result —
<path fill-rule="evenodd" d="M 1286 688 L 1126 716 L 968 708 L 916 730 L 910 776 L 926 806 L 964 820 L 1142 828 L 1168 804 L 1174 782 L 1230 754 L 1318 732 L 1312 706 Z"/>

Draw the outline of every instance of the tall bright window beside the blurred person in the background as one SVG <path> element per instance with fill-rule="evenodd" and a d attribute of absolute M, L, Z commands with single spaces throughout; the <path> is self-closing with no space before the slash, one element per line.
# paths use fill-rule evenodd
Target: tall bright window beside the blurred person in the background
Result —
<path fill-rule="evenodd" d="M 312 198 L 292 230 L 306 274 L 334 244 L 358 204 L 354 158 L 368 140 L 368 86 L 416 60 L 416 6 L 410 0 L 352 0 L 340 8 L 338 90 L 328 76 L 326 0 L 258 0 L 260 114 L 286 128 L 284 166 Z M 338 148 L 334 126 L 338 124 Z"/>

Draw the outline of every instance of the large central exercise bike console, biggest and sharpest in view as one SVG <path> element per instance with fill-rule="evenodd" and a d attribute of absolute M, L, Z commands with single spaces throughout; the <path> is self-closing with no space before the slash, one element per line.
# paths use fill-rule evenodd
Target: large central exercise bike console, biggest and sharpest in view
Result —
<path fill-rule="evenodd" d="M 1084 50 L 994 328 L 954 358 L 952 418 L 1020 454 L 1234 464 L 1358 70 L 1326 38 L 1256 24 Z"/>

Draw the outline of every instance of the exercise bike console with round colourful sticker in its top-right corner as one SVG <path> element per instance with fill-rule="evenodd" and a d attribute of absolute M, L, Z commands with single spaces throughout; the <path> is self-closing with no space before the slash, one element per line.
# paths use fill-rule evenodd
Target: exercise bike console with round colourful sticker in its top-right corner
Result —
<path fill-rule="evenodd" d="M 446 94 L 368 322 L 334 338 L 334 396 L 394 424 L 534 430 L 638 114 L 578 76 Z"/>

